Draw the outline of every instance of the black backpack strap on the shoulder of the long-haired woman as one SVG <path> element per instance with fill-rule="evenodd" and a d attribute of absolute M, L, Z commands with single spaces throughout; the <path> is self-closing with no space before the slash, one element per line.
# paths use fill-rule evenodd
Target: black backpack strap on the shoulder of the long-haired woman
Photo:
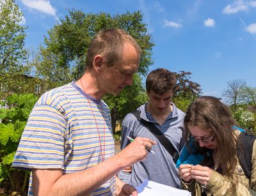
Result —
<path fill-rule="evenodd" d="M 253 142 L 256 139 L 255 135 L 250 135 L 246 132 L 241 132 L 239 134 L 238 140 L 241 142 L 241 147 L 243 149 L 237 148 L 237 155 L 239 158 L 239 163 L 244 170 L 246 176 L 250 179 L 252 172 L 252 151 Z"/>

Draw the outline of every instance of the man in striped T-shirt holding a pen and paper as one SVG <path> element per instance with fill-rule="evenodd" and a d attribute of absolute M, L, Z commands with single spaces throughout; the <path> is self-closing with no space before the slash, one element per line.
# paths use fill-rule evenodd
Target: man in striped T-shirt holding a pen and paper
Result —
<path fill-rule="evenodd" d="M 138 137 L 114 155 L 111 116 L 101 98 L 132 84 L 140 54 L 125 31 L 100 31 L 81 79 L 36 102 L 12 164 L 32 171 L 28 195 L 137 195 L 115 174 L 143 160 L 155 142 Z"/>

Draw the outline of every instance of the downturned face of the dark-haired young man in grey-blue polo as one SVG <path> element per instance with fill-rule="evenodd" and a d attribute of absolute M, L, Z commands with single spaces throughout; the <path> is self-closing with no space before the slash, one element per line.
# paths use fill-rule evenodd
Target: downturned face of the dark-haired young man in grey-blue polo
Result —
<path fill-rule="evenodd" d="M 149 107 L 152 112 L 156 112 L 158 114 L 163 114 L 168 112 L 170 109 L 170 103 L 173 96 L 172 89 L 166 91 L 163 94 L 157 94 L 153 91 L 150 91 L 148 94 L 149 98 Z"/>

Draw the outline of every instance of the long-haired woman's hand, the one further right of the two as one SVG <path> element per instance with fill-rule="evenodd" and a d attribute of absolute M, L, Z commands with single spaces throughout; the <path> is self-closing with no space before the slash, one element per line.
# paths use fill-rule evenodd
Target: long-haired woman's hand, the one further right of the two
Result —
<path fill-rule="evenodd" d="M 196 181 L 202 185 L 206 185 L 211 178 L 212 170 L 209 167 L 204 167 L 202 165 L 191 165 L 190 173 Z"/>

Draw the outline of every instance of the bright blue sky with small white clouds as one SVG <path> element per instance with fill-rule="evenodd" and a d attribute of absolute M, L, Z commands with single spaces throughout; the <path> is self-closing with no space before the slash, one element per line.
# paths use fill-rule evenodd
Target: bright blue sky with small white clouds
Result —
<path fill-rule="evenodd" d="M 16 0 L 24 13 L 26 47 L 36 50 L 44 35 L 67 15 L 116 14 L 141 10 L 152 34 L 154 65 L 192 72 L 204 94 L 220 97 L 227 82 L 246 80 L 256 87 L 256 1 L 236 0 Z"/>

